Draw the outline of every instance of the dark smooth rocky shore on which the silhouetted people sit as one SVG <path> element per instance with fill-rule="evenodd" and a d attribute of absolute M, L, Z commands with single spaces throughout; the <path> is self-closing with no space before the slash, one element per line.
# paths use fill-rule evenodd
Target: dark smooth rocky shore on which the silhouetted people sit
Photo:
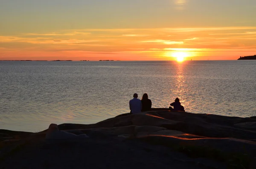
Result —
<path fill-rule="evenodd" d="M 0 129 L 0 169 L 256 169 L 256 117 L 152 109 L 58 129 Z"/>

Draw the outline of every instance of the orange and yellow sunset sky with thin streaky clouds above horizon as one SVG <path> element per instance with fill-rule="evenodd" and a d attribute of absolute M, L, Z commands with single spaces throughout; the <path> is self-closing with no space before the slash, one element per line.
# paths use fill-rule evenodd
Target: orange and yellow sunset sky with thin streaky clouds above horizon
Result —
<path fill-rule="evenodd" d="M 256 0 L 0 0 L 0 60 L 236 60 Z"/>

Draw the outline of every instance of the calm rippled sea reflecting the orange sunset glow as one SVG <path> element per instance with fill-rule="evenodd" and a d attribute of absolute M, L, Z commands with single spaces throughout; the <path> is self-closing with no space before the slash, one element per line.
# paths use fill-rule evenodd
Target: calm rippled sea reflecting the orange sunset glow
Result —
<path fill-rule="evenodd" d="M 187 112 L 256 116 L 256 61 L 0 62 L 0 129 L 96 123 L 130 112 L 134 92 L 155 108 L 179 97 Z"/>

